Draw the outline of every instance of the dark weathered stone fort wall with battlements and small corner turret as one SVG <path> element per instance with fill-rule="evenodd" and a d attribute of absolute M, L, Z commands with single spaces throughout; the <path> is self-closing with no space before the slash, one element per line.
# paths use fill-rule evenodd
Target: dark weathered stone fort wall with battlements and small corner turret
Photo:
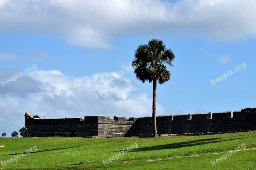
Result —
<path fill-rule="evenodd" d="M 256 130 L 256 108 L 156 117 L 158 134 Z M 85 116 L 37 119 L 25 114 L 25 137 L 136 137 L 152 133 L 152 117 Z"/>

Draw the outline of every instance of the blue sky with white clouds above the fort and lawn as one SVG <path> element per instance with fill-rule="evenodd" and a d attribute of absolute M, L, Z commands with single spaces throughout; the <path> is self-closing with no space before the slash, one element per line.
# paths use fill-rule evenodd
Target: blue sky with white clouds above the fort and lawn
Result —
<path fill-rule="evenodd" d="M 157 115 L 256 107 L 255 5 L 253 0 L 0 3 L 0 81 L 34 66 L 17 81 L 0 84 L 0 129 L 10 137 L 24 126 L 26 111 L 46 118 L 151 115 L 152 84 L 138 81 L 132 70 L 108 85 L 102 82 L 125 72 L 138 45 L 152 38 L 176 55 L 174 67 L 168 67 L 171 80 L 157 85 Z"/>

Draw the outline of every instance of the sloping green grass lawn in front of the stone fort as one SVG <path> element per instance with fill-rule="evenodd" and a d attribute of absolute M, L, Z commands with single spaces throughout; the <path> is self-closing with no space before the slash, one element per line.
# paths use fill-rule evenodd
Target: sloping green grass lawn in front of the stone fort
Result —
<path fill-rule="evenodd" d="M 0 138 L 2 144 L 3 169 L 256 169 L 256 149 L 242 147 L 226 160 L 211 164 L 226 154 L 212 153 L 234 151 L 242 144 L 246 149 L 256 148 L 255 131 L 158 138 Z M 131 145 L 134 149 L 120 156 Z M 33 152 L 25 155 L 30 148 Z M 23 157 L 12 162 L 22 152 Z M 116 154 L 118 160 L 103 163 Z M 148 161 L 152 159 L 161 160 Z"/>

